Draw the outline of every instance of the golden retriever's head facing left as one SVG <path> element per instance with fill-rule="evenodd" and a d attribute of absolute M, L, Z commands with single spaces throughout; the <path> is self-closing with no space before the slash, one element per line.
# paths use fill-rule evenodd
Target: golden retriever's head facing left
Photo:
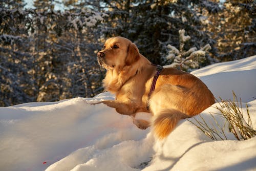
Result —
<path fill-rule="evenodd" d="M 99 65 L 106 70 L 121 70 L 131 66 L 140 58 L 135 44 L 124 37 L 112 37 L 106 40 L 104 47 L 97 53 Z"/>

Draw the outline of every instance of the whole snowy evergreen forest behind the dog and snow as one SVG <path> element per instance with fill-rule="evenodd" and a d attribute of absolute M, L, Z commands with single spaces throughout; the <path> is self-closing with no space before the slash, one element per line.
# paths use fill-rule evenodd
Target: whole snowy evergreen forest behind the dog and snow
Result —
<path fill-rule="evenodd" d="M 211 46 L 197 68 L 255 55 L 255 12 L 253 0 L 1 1 L 0 106 L 102 92 L 96 53 L 112 36 L 158 65 L 173 62 L 167 45 L 179 47 L 181 29 L 185 50 Z"/>

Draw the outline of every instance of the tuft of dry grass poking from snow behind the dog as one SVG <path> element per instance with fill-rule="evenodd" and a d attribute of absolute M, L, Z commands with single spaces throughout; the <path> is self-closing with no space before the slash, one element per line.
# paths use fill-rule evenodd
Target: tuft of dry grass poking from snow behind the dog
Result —
<path fill-rule="evenodd" d="M 225 135 L 224 129 L 226 124 L 228 124 L 229 131 L 237 138 L 237 140 L 247 140 L 256 135 L 256 131 L 253 130 L 252 123 L 251 123 L 251 118 L 249 115 L 249 108 L 246 103 L 246 114 L 243 114 L 243 109 L 242 109 L 242 102 L 240 98 L 240 102 L 238 101 L 238 98 L 236 94 L 233 92 L 233 100 L 223 100 L 220 98 L 219 102 L 220 107 L 216 106 L 215 108 L 220 111 L 219 114 L 222 115 L 224 118 L 226 118 L 226 122 L 224 125 L 220 125 L 216 118 L 210 113 L 211 117 L 214 119 L 215 124 L 209 125 L 207 122 L 200 116 L 201 121 L 197 120 L 194 118 L 197 122 L 191 122 L 194 125 L 198 127 L 205 135 L 210 137 L 213 140 L 227 140 L 227 136 Z M 245 117 L 246 116 L 246 117 Z M 219 131 L 218 131 L 219 130 Z"/>

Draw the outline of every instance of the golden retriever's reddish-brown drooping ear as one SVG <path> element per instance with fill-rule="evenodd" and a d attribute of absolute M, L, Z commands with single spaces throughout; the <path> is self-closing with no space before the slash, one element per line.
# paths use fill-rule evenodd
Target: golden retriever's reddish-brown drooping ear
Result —
<path fill-rule="evenodd" d="M 135 44 L 130 42 L 130 44 L 127 48 L 127 56 L 125 59 L 125 65 L 130 66 L 130 65 L 132 65 L 132 63 L 139 60 L 139 58 L 140 58 L 140 54 L 139 54 L 138 48 L 136 47 Z"/>

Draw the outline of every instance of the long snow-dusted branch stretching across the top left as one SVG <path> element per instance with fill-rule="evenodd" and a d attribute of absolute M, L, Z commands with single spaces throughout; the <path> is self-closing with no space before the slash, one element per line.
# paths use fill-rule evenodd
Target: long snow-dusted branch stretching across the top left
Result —
<path fill-rule="evenodd" d="M 108 16 L 103 12 L 96 12 L 91 9 L 83 9 L 77 13 L 71 13 L 69 11 L 36 11 L 35 9 L 6 9 L 0 8 L 0 14 L 2 18 L 9 18 L 10 16 L 14 18 L 25 18 L 22 20 L 24 25 L 49 25 L 47 22 L 51 22 L 51 25 L 62 24 L 63 28 L 75 28 L 83 29 L 84 27 L 94 27 L 98 22 L 103 20 L 103 17 Z M 51 19 L 49 19 L 51 18 Z M 8 20 L 6 20 L 8 24 Z M 29 30 L 29 28 L 27 28 Z"/>

